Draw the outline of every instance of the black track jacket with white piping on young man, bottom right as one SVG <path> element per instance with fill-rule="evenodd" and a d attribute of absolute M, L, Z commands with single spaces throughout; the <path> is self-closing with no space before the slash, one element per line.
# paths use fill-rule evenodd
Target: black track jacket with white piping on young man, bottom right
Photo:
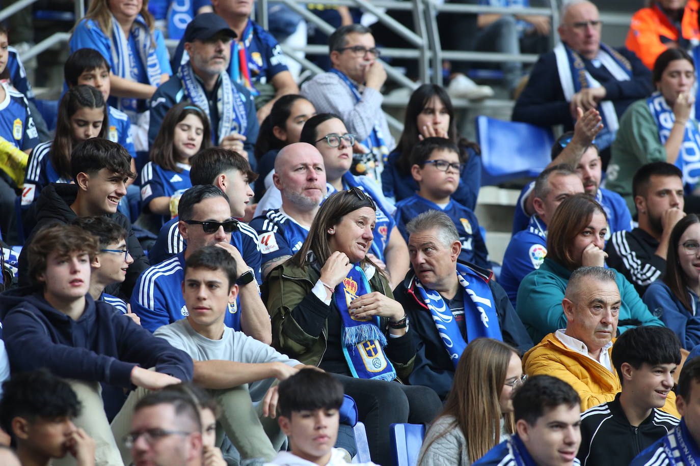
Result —
<path fill-rule="evenodd" d="M 680 422 L 661 409 L 652 409 L 651 414 L 634 427 L 622 411 L 619 395 L 581 414 L 581 446 L 577 454 L 581 466 L 629 465 L 643 449 Z"/>

